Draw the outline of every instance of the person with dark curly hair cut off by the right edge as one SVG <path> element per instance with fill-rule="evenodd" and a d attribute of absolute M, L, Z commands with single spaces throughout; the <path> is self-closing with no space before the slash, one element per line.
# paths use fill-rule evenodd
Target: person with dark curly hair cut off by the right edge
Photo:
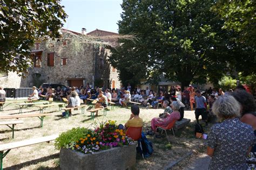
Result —
<path fill-rule="evenodd" d="M 246 90 L 237 89 L 232 93 L 232 96 L 241 104 L 240 121 L 251 125 L 256 138 L 256 105 L 253 95 Z M 256 169 L 256 144 L 254 143 L 246 160 L 247 169 Z"/>

